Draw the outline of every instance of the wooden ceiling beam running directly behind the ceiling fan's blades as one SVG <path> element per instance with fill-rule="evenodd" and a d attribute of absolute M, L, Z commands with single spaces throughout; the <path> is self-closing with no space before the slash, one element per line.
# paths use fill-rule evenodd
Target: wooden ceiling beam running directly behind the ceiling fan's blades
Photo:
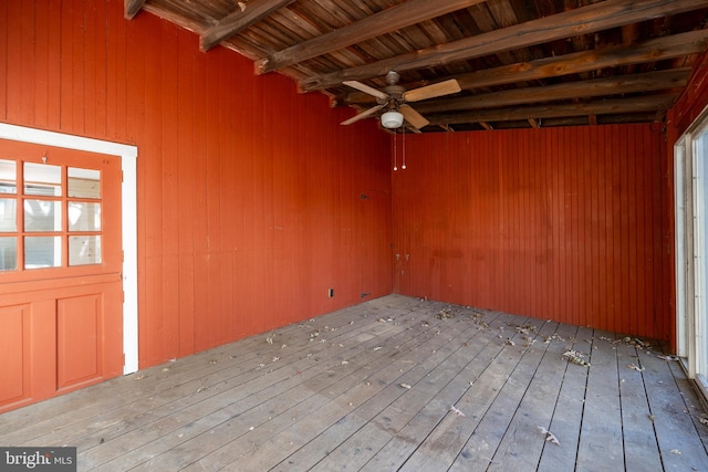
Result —
<path fill-rule="evenodd" d="M 582 51 L 555 57 L 519 62 L 456 75 L 455 78 L 457 78 L 462 90 L 475 90 L 510 84 L 517 81 L 534 81 L 606 67 L 683 57 L 690 54 L 699 54 L 707 46 L 708 29 L 657 38 L 631 45 L 607 46 L 594 51 Z M 419 84 L 415 86 L 419 86 Z M 410 85 L 405 84 L 404 87 L 412 88 Z M 351 93 L 334 99 L 333 106 L 366 105 L 373 102 L 374 99 L 369 95 Z"/>

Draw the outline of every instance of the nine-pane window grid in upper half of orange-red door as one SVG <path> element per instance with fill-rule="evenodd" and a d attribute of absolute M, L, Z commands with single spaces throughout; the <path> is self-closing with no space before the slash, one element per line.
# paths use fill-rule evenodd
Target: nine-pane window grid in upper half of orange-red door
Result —
<path fill-rule="evenodd" d="M 0 271 L 101 264 L 101 179 L 97 169 L 0 159 Z"/>

